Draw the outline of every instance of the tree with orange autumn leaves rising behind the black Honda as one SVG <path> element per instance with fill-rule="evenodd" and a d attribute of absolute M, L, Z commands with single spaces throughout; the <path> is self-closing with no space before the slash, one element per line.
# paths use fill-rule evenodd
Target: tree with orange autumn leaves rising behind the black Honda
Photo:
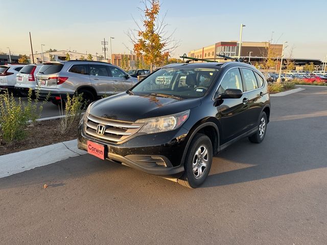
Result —
<path fill-rule="evenodd" d="M 154 65 L 162 65 L 168 59 L 178 46 L 178 42 L 172 39 L 173 34 L 165 35 L 167 34 L 165 17 L 158 19 L 159 0 L 143 0 L 142 3 L 145 8 L 141 16 L 143 23 L 138 24 L 135 21 L 137 32 L 129 30 L 127 35 L 134 45 L 136 55 L 142 55 L 144 62 L 150 65 L 152 71 Z"/>

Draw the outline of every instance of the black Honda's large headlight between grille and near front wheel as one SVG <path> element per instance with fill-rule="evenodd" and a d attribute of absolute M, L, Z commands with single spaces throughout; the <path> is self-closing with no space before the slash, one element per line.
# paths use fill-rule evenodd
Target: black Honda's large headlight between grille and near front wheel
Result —
<path fill-rule="evenodd" d="M 188 119 L 189 115 L 190 110 L 168 116 L 140 119 L 135 122 L 145 124 L 139 131 L 140 133 L 153 134 L 178 129 Z"/>

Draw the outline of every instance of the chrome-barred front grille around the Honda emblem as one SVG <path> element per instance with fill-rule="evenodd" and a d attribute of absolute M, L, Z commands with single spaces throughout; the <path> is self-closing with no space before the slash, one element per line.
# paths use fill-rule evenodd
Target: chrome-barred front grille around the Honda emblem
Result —
<path fill-rule="evenodd" d="M 98 125 L 105 126 L 105 133 L 103 135 L 97 133 Z M 119 143 L 135 134 L 143 125 L 144 124 L 100 118 L 89 114 L 84 122 L 84 130 L 87 135 L 92 137 Z"/>

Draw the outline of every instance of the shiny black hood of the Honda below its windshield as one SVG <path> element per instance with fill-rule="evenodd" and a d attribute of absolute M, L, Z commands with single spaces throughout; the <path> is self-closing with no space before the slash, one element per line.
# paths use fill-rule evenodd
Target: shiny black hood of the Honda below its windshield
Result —
<path fill-rule="evenodd" d="M 201 99 L 176 100 L 157 96 L 120 93 L 91 105 L 90 114 L 102 118 L 131 121 L 171 115 L 197 107 Z"/>

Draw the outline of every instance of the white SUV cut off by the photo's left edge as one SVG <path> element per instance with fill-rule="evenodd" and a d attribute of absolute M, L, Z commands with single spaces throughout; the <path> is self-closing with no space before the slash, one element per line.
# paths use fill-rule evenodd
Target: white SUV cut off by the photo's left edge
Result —
<path fill-rule="evenodd" d="M 0 65 L 0 90 L 14 90 L 16 75 L 25 65 Z"/>

